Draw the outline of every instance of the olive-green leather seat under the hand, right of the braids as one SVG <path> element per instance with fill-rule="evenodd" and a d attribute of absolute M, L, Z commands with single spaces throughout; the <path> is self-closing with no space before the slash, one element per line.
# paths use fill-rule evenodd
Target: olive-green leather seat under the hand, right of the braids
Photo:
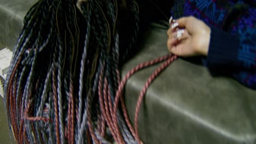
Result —
<path fill-rule="evenodd" d="M 168 53 L 165 29 L 150 27 L 141 51 L 123 67 Z M 139 92 L 158 67 L 139 71 L 127 82 L 125 101 L 133 122 Z M 139 112 L 144 143 L 256 143 L 256 91 L 229 77 L 212 77 L 207 68 L 179 58 L 150 85 Z"/>

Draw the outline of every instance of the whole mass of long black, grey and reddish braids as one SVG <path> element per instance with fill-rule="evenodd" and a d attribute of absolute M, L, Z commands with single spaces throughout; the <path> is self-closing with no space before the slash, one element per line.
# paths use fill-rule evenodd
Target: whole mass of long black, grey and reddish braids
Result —
<path fill-rule="evenodd" d="M 18 143 L 142 143 L 130 123 L 120 63 L 136 43 L 135 0 L 40 0 L 24 18 L 4 84 L 10 128 Z M 119 104 L 121 106 L 119 106 Z"/>

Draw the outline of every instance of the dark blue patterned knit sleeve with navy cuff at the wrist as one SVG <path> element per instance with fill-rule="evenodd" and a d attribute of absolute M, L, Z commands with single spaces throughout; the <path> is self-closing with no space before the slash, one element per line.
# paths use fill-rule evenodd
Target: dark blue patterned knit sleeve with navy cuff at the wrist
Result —
<path fill-rule="evenodd" d="M 206 67 L 211 72 L 232 74 L 239 82 L 256 89 L 256 19 L 249 9 L 229 32 L 211 26 L 211 40 Z"/>

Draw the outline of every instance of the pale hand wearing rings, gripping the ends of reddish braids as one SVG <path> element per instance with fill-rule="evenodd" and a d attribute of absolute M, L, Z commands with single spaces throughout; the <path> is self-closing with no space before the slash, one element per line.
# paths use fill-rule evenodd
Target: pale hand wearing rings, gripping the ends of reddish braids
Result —
<path fill-rule="evenodd" d="M 207 56 L 211 29 L 193 16 L 182 17 L 171 23 L 167 31 L 168 51 L 181 57 Z"/>

